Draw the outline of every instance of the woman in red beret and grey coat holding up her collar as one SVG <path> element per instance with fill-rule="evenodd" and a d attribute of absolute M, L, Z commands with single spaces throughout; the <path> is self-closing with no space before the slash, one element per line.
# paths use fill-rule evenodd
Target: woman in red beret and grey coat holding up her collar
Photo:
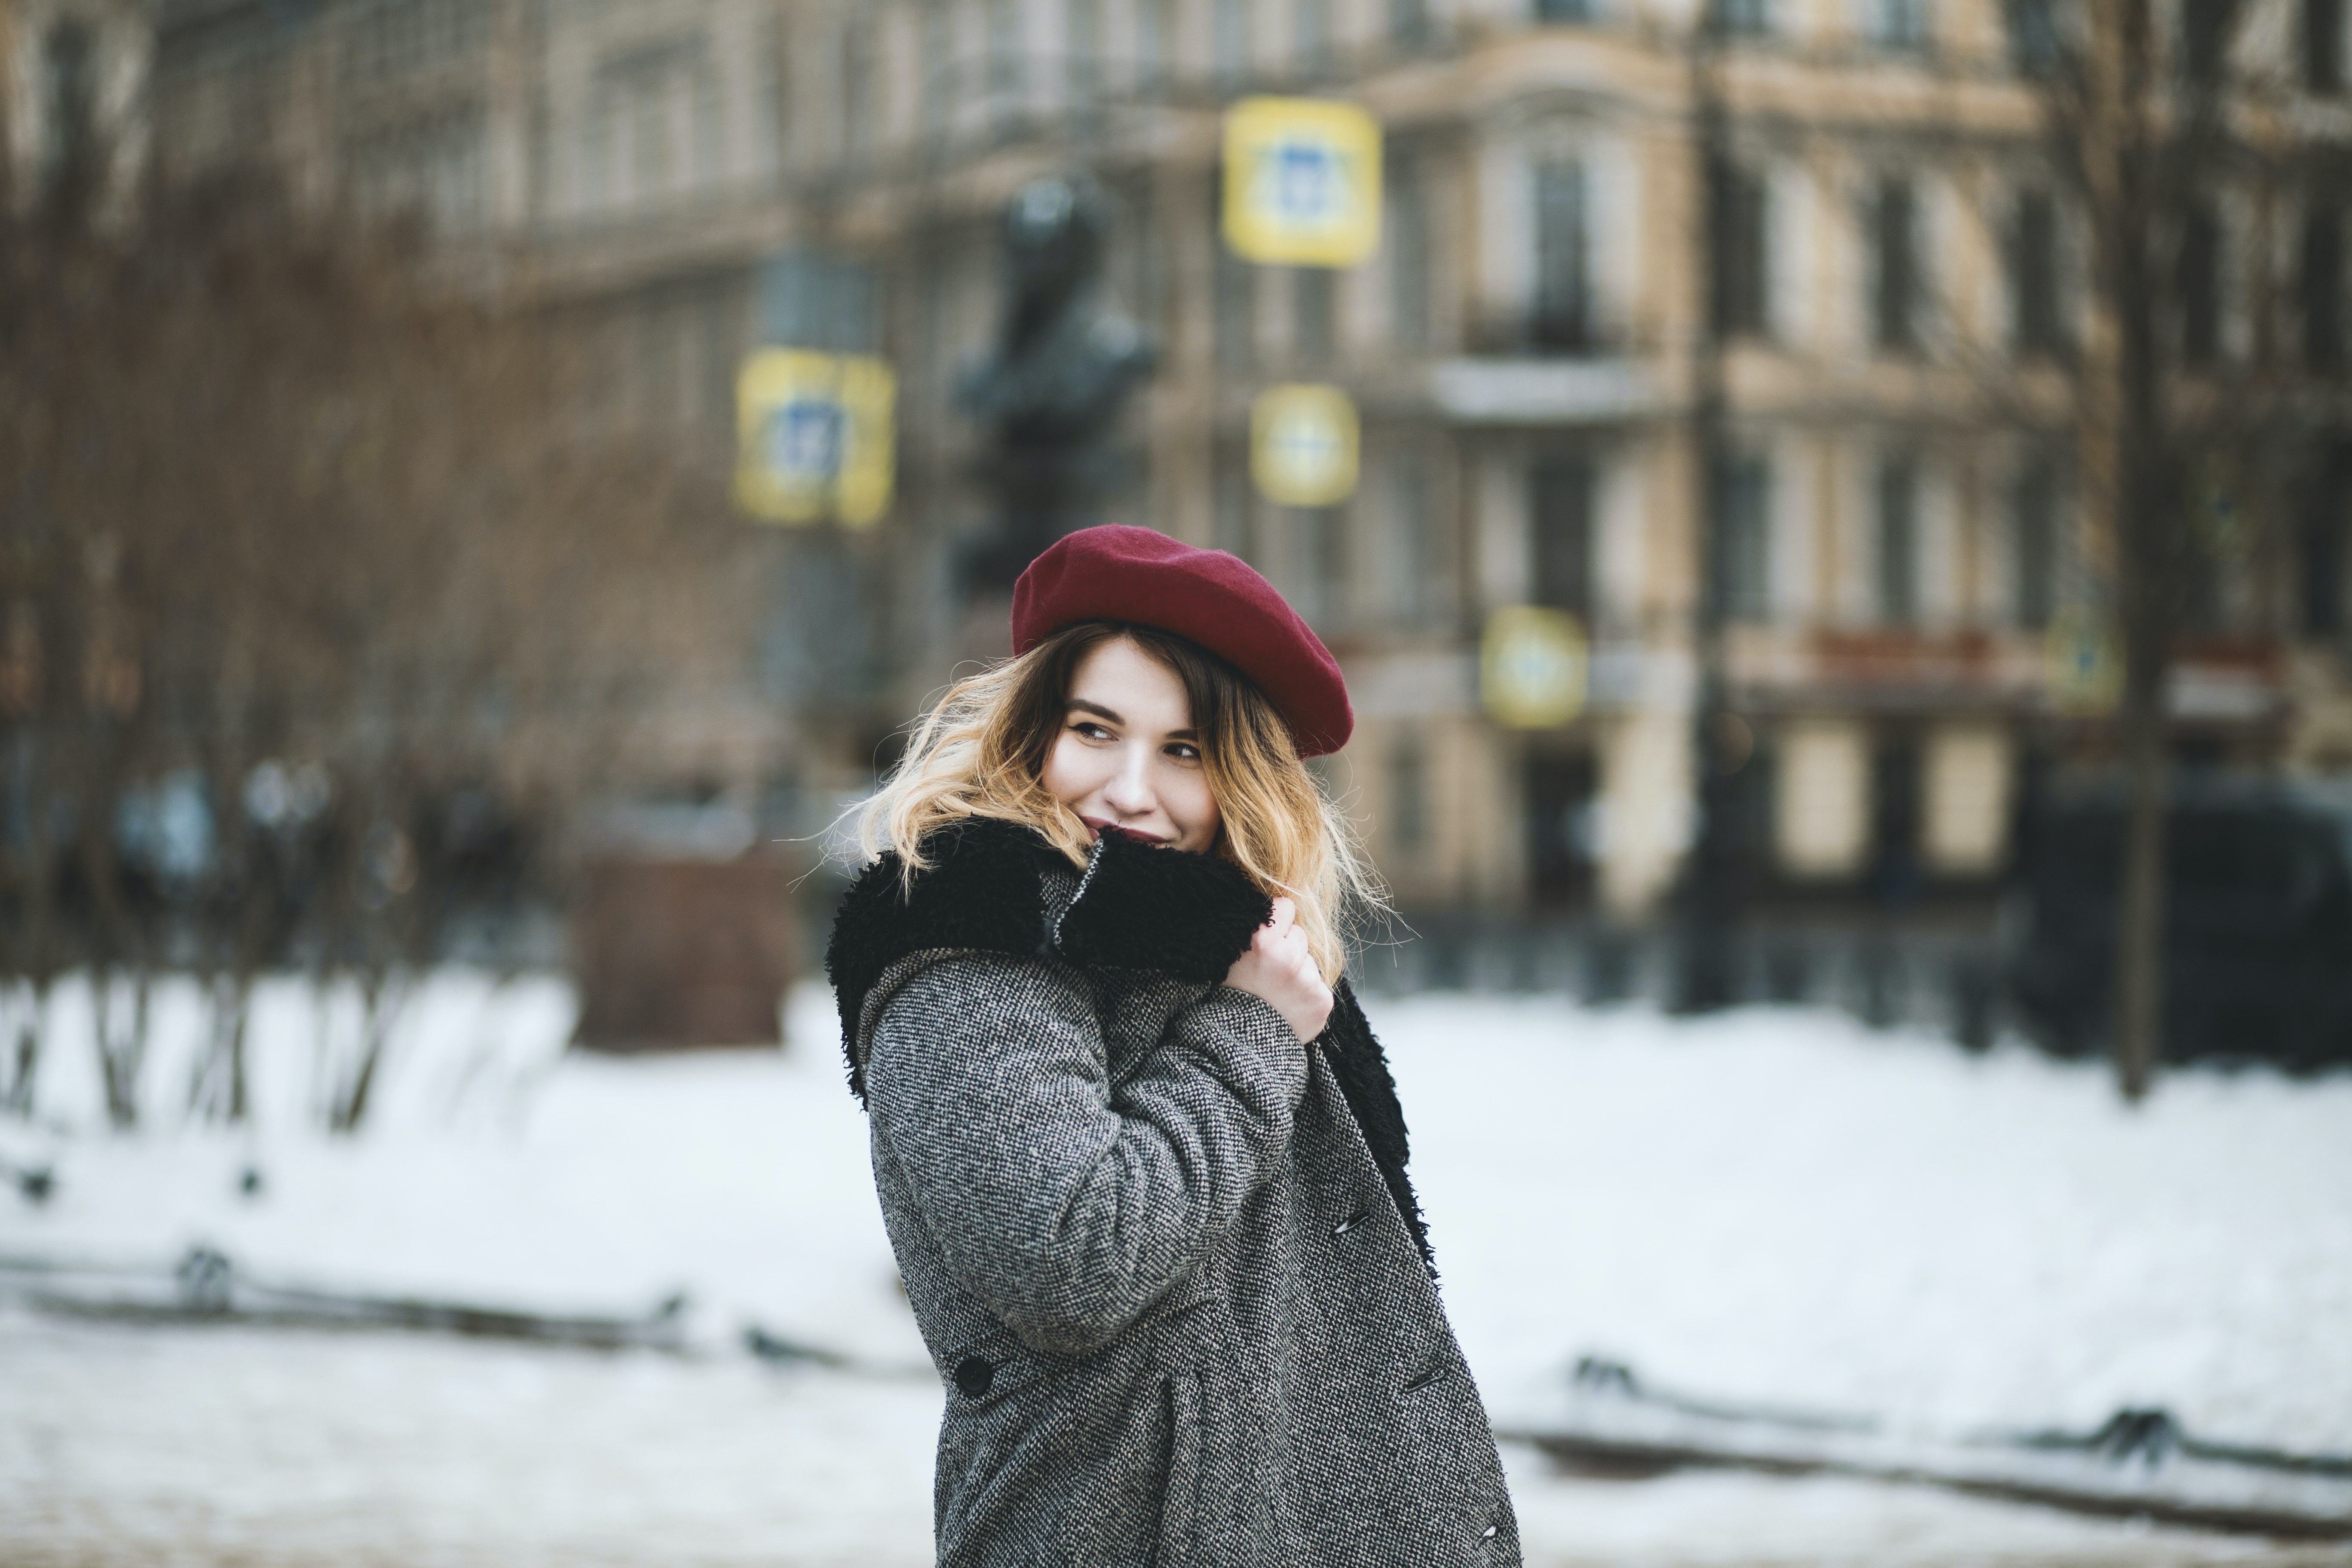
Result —
<path fill-rule="evenodd" d="M 1023 574 L 1014 649 L 868 804 L 826 954 L 948 1385 L 938 1561 L 1517 1563 L 1341 978 L 1338 665 L 1117 527 Z"/>

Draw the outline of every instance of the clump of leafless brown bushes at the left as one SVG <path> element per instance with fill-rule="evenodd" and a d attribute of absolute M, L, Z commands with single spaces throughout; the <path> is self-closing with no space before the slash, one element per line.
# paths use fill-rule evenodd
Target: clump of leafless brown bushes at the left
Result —
<path fill-rule="evenodd" d="M 459 802 L 527 820 L 515 875 L 560 893 L 633 726 L 748 663 L 764 541 L 409 230 L 235 172 L 122 226 L 0 212 L 7 973 L 38 1004 L 89 969 L 129 1124 L 158 969 L 212 1011 L 191 1107 L 235 1119 L 254 983 L 301 964 L 360 999 L 320 1034 L 350 1131 L 477 893 Z M 127 832 L 172 802 L 193 844 Z"/>

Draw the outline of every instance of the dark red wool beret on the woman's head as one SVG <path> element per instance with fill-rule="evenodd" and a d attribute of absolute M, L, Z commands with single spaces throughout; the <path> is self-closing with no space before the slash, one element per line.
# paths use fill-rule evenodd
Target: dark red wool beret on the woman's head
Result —
<path fill-rule="evenodd" d="M 1014 583 L 1014 654 L 1080 621 L 1155 625 L 1209 649 L 1258 684 L 1301 757 L 1336 752 L 1355 731 L 1331 649 L 1237 555 L 1120 524 L 1065 534 Z"/>

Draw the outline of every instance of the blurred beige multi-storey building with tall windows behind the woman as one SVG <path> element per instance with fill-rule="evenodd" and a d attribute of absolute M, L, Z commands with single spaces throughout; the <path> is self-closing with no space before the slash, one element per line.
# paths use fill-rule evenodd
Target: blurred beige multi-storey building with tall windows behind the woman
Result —
<path fill-rule="evenodd" d="M 757 658 L 797 738 L 731 766 L 854 790 L 1004 651 L 962 571 L 990 517 L 953 383 L 995 334 L 1004 200 L 1080 169 L 1162 348 L 1103 520 L 1249 557 L 1338 651 L 1359 729 L 1334 783 L 1399 905 L 1656 914 L 1708 691 L 1757 900 L 1980 919 L 2018 799 L 2105 748 L 2051 679 L 2110 592 L 2051 414 L 2089 327 L 2032 75 L 2053 12 L 1717 5 L 1700 28 L 1682 0 L 169 0 L 153 146 L 261 148 L 318 200 L 421 214 L 463 275 L 576 322 L 616 423 L 717 465 L 748 348 L 896 362 L 896 505 L 790 541 Z M 2249 101 L 2314 158 L 2352 150 L 2340 7 L 2256 0 L 2234 33 Z M 66 9 L 9 12 L 12 106 L 47 59 L 31 19 Z M 2204 12 L 2159 14 L 2178 42 Z M 1258 92 L 1383 122 L 1371 263 L 1223 249 L 1221 110 Z M 2187 759 L 2340 771 L 2345 216 L 2281 202 L 2216 193 L 2183 261 L 2211 280 L 2185 355 L 2230 364 L 2270 350 L 2263 247 L 2293 252 L 2312 395 L 2274 475 L 2216 482 L 2173 710 Z M 1348 503 L 1254 494 L 1249 404 L 1282 381 L 1362 409 Z M 1571 724 L 1479 705 L 1482 625 L 1515 604 L 1590 628 Z"/>

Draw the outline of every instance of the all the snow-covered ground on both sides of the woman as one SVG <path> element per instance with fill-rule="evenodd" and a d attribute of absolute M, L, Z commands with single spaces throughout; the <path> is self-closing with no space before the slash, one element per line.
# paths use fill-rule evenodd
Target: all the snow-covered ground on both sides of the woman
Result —
<path fill-rule="evenodd" d="M 318 1016 L 275 987 L 249 1131 L 172 1117 L 195 1006 L 158 999 L 151 1126 L 99 1131 L 75 1037 L 0 1159 L 0 1255 L 169 1262 L 562 1312 L 694 1300 L 696 1354 L 129 1328 L 0 1307 L 0 1561 L 924 1563 L 938 1394 L 894 1288 L 830 997 L 786 1056 L 564 1058 L 546 980 L 428 987 L 355 1140 L 310 1131 Z M 348 1025 L 348 1020 L 341 1020 Z M 1722 1399 L 1931 1432 L 2091 1427 L 2352 1450 L 2352 1079 L 1964 1058 L 1844 1018 L 1552 999 L 1374 1009 L 1463 1345 L 1503 1422 L 1583 1352 Z M 341 1025 L 339 1025 L 341 1027 Z M 240 1173 L 261 1171 L 256 1194 Z M 866 1373 L 767 1368 L 757 1321 Z M 2347 1563 L 1860 1481 L 1555 1476 L 1552 1568 Z"/>

